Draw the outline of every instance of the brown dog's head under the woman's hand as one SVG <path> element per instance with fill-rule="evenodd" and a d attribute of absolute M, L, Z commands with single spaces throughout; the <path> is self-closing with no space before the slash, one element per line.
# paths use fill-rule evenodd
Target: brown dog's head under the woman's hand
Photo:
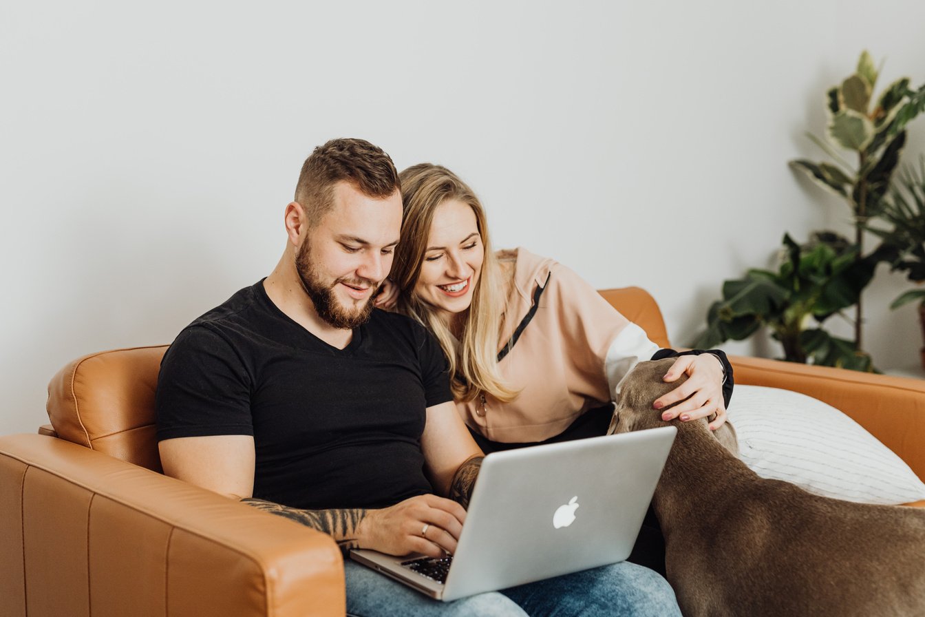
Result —
<path fill-rule="evenodd" d="M 675 358 L 665 358 L 664 360 L 640 362 L 623 378 L 620 401 L 617 401 L 616 410 L 613 412 L 611 426 L 607 430 L 608 435 L 665 426 L 666 423 L 661 419 L 661 414 L 683 401 L 662 409 L 655 409 L 652 403 L 687 380 L 685 374 L 672 382 L 663 380 L 668 369 L 674 364 L 674 360 Z M 678 422 L 680 421 L 672 420 L 672 423 Z M 692 420 L 685 424 L 701 426 L 704 431 L 717 438 L 727 450 L 733 453 L 738 451 L 734 428 L 729 422 L 720 426 L 716 431 L 709 430 L 707 418 Z"/>

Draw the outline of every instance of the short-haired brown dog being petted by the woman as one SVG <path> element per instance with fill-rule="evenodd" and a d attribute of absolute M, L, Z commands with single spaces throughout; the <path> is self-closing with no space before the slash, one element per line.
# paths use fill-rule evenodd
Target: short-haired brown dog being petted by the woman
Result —
<path fill-rule="evenodd" d="M 672 362 L 640 363 L 626 377 L 611 433 L 665 425 L 652 402 L 678 385 L 661 380 Z M 705 420 L 672 424 L 653 503 L 685 616 L 925 615 L 925 510 L 763 479 Z"/>

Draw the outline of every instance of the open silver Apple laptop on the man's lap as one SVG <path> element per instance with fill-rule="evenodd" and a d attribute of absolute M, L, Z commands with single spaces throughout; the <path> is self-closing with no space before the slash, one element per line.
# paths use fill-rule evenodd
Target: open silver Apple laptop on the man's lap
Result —
<path fill-rule="evenodd" d="M 451 560 L 368 549 L 351 558 L 444 601 L 623 561 L 676 432 L 664 426 L 489 454 Z M 436 571 L 447 565 L 441 583 Z"/>

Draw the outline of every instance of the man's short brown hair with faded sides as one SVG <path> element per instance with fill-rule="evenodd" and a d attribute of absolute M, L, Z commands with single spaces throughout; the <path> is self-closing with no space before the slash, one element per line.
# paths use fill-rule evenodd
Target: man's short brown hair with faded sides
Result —
<path fill-rule="evenodd" d="M 334 185 L 340 181 L 376 199 L 401 191 L 399 172 L 382 148 L 365 140 L 331 140 L 305 159 L 295 187 L 295 201 L 305 209 L 311 224 L 333 207 Z"/>

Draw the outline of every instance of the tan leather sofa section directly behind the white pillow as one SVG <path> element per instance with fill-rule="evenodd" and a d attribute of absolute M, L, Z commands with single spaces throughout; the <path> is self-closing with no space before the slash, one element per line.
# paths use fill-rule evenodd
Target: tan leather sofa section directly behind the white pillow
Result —
<path fill-rule="evenodd" d="M 925 478 L 925 380 L 745 356 L 729 360 L 736 384 L 794 390 L 827 402 Z"/>

